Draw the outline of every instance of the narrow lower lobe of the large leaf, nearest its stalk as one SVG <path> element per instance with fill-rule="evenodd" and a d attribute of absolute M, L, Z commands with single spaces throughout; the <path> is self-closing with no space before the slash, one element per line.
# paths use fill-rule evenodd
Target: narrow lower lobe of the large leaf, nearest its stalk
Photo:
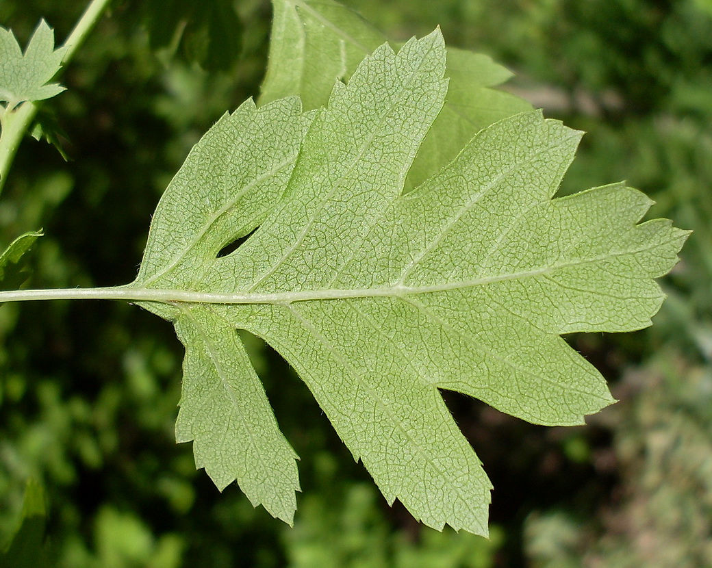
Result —
<path fill-rule="evenodd" d="M 176 441 L 194 440 L 196 466 L 220 490 L 237 479 L 253 505 L 291 525 L 298 456 L 279 431 L 235 328 L 204 306 L 184 310 L 176 330 L 186 346 Z"/>

